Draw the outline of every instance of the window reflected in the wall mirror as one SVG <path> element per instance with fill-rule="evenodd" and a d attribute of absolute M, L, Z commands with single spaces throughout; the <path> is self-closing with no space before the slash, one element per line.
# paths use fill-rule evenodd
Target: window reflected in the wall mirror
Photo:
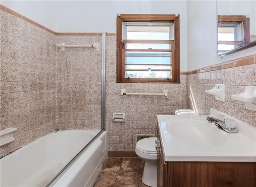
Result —
<path fill-rule="evenodd" d="M 249 18 L 246 16 L 218 16 L 218 54 L 250 42 Z"/>

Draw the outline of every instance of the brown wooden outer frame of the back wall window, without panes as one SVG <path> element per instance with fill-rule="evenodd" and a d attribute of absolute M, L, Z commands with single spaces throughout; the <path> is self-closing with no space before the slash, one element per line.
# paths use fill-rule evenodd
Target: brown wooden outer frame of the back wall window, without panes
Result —
<path fill-rule="evenodd" d="M 125 78 L 124 50 L 122 49 L 123 22 L 173 22 L 172 77 L 169 79 Z M 174 14 L 119 14 L 116 18 L 116 82 L 117 83 L 180 83 L 180 15 Z"/>

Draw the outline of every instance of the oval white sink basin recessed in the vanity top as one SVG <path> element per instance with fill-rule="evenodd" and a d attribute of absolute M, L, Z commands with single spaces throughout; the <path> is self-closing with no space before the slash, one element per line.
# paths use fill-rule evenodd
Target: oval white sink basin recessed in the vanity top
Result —
<path fill-rule="evenodd" d="M 221 146 L 227 133 L 202 118 L 177 118 L 166 122 L 166 130 L 179 140 L 194 146 Z"/>

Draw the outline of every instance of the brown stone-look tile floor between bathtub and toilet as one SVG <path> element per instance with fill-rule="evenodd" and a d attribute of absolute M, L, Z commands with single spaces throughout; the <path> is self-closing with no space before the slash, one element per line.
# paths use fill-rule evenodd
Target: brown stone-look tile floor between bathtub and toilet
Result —
<path fill-rule="evenodd" d="M 109 157 L 94 187 L 148 187 L 141 180 L 143 168 L 139 157 Z"/>

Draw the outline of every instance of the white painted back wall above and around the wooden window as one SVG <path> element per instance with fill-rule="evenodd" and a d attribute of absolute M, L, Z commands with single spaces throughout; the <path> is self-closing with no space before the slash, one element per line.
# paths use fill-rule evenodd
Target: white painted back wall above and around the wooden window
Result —
<path fill-rule="evenodd" d="M 180 14 L 180 70 L 187 71 L 186 1 L 57 1 L 57 32 L 116 33 L 116 14 Z"/>

